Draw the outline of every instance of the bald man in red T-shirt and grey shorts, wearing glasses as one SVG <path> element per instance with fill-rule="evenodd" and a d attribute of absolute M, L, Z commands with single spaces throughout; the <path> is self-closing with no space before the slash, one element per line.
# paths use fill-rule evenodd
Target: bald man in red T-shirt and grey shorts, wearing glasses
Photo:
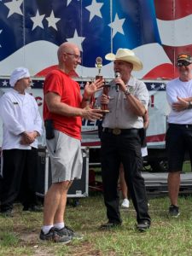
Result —
<path fill-rule="evenodd" d="M 101 119 L 102 110 L 89 107 L 90 97 L 103 81 L 87 83 L 83 97 L 70 73 L 81 61 L 76 44 L 64 43 L 57 52 L 59 66 L 44 82 L 44 124 L 51 160 L 52 185 L 44 198 L 44 226 L 41 240 L 67 243 L 77 236 L 64 223 L 67 191 L 82 172 L 81 119 Z"/>

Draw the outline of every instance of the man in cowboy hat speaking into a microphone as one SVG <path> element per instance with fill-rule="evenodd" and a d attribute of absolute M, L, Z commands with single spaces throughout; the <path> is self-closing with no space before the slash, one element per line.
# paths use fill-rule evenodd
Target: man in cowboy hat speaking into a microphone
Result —
<path fill-rule="evenodd" d="M 146 85 L 131 76 L 132 70 L 143 68 L 142 62 L 131 49 L 118 49 L 116 55 L 108 54 L 113 61 L 116 79 L 109 84 L 108 96 L 98 98 L 101 104 L 108 104 L 109 113 L 102 122 L 102 183 L 108 223 L 102 230 L 108 230 L 122 223 L 119 212 L 118 178 L 119 165 L 125 170 L 125 181 L 137 212 L 137 230 L 145 231 L 150 226 L 148 200 L 144 179 L 141 175 L 143 160 L 139 129 L 143 128 L 143 115 L 148 109 Z"/>

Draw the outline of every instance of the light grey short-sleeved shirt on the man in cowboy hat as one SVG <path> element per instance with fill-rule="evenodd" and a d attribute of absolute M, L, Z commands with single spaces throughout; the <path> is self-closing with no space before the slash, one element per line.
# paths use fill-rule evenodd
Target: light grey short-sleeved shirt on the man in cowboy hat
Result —
<path fill-rule="evenodd" d="M 148 89 L 143 81 L 140 81 L 131 76 L 128 84 L 129 85 L 127 86 L 130 89 L 131 94 L 143 102 L 145 108 L 148 109 Z M 102 122 L 102 127 L 108 127 L 112 129 L 143 128 L 143 117 L 138 117 L 136 114 L 132 113 L 125 93 L 121 90 L 116 92 L 116 85 L 113 81 L 110 83 L 108 96 L 109 113 L 106 113 Z M 98 97 L 97 102 L 100 102 L 100 97 Z"/>

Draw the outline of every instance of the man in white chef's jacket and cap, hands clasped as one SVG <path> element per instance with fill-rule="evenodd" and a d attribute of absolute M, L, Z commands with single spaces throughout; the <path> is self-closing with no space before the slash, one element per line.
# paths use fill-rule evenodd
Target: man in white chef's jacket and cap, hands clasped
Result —
<path fill-rule="evenodd" d="M 6 216 L 12 216 L 19 195 L 23 210 L 35 211 L 37 138 L 42 134 L 42 119 L 37 102 L 26 92 L 31 82 L 28 69 L 16 68 L 9 80 L 12 88 L 0 98 L 3 120 L 0 212 Z"/>

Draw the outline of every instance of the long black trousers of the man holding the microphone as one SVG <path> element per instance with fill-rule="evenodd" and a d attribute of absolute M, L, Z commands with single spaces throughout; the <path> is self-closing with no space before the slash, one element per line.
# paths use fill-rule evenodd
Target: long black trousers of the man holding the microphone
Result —
<path fill-rule="evenodd" d="M 122 222 L 119 212 L 118 191 L 119 165 L 122 162 L 125 182 L 137 212 L 137 223 L 146 220 L 150 223 L 146 189 L 141 175 L 143 159 L 138 130 L 130 129 L 130 131 L 119 135 L 104 131 L 101 141 L 103 195 L 109 222 Z"/>

